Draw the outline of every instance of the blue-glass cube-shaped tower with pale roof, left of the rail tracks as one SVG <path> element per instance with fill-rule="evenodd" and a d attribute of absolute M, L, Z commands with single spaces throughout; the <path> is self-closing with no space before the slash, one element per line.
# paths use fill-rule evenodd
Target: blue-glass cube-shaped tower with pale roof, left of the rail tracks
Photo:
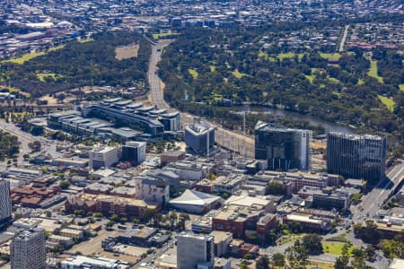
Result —
<path fill-rule="evenodd" d="M 194 122 L 185 127 L 187 150 L 201 155 L 209 155 L 215 145 L 215 127 L 195 117 Z"/>

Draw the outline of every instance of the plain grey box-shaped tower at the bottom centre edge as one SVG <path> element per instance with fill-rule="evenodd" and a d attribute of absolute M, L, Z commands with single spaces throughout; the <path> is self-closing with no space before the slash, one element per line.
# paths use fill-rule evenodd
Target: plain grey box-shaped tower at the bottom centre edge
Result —
<path fill-rule="evenodd" d="M 213 268 L 214 251 L 214 237 L 180 233 L 177 236 L 177 268 L 194 269 L 198 265 Z"/>

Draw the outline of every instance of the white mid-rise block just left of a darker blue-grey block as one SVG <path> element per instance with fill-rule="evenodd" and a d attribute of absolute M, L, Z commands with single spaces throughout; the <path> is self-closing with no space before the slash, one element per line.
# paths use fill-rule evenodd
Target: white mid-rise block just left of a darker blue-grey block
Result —
<path fill-rule="evenodd" d="M 96 146 L 89 152 L 92 169 L 110 168 L 116 164 L 122 154 L 121 147 Z"/>

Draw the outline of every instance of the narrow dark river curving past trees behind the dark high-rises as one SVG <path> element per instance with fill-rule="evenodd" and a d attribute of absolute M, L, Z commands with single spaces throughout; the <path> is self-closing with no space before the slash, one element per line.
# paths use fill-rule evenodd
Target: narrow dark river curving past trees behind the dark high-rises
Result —
<path fill-rule="evenodd" d="M 299 114 L 297 112 L 287 111 L 287 110 L 283 110 L 283 109 L 264 108 L 264 107 L 252 107 L 251 108 L 250 106 L 244 106 L 241 108 L 241 110 L 245 111 L 245 112 L 249 112 L 249 113 L 268 114 L 268 115 L 274 115 L 274 116 L 285 116 L 285 117 L 291 117 L 294 120 L 308 121 L 313 126 L 323 126 L 324 129 L 328 132 L 332 131 L 332 132 L 340 132 L 340 133 L 345 133 L 345 134 L 356 134 L 356 129 L 354 129 L 352 127 L 343 126 L 338 123 L 332 123 L 332 122 L 322 120 L 321 118 L 318 118 L 318 117 L 312 117 L 310 115 L 303 115 L 303 114 Z"/>

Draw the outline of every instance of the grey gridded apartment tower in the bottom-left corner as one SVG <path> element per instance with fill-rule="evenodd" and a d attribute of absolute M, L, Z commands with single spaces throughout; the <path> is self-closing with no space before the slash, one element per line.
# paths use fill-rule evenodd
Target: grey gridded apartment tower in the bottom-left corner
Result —
<path fill-rule="evenodd" d="M 45 230 L 20 230 L 10 247 L 12 269 L 46 268 Z"/>

